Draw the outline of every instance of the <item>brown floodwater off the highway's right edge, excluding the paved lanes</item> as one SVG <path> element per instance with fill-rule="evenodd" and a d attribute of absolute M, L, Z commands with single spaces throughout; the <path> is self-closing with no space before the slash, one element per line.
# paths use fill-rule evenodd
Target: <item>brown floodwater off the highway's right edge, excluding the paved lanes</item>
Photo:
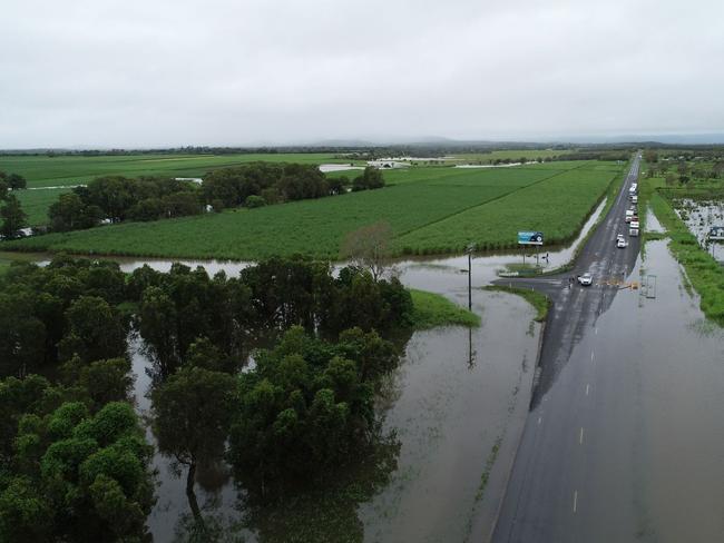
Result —
<path fill-rule="evenodd" d="M 656 298 L 643 298 L 637 318 L 646 531 L 659 542 L 724 541 L 724 333 L 684 287 L 666 241 L 648 244 L 644 266 L 656 275 Z"/>

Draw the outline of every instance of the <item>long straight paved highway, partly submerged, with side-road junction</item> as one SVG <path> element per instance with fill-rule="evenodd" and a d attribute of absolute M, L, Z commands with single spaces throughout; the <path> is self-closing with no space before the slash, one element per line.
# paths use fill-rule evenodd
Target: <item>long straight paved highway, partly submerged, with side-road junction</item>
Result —
<path fill-rule="evenodd" d="M 548 294 L 554 308 L 544 332 L 536 387 L 492 540 L 496 542 L 630 541 L 646 534 L 637 515 L 637 455 L 622 454 L 636 443 L 632 427 L 617 422 L 635 413 L 637 379 L 626 375 L 625 319 L 606 318 L 638 255 L 628 237 L 628 188 L 636 182 L 636 157 L 616 201 L 566 275 L 505 280 Z M 627 248 L 616 247 L 625 234 Z M 590 287 L 570 284 L 589 272 Z M 627 340 L 622 340 L 622 337 Z M 634 339 L 632 339 L 634 338 Z M 555 385 L 555 386 L 554 386 Z M 627 398 L 619 401 L 618 398 Z M 605 415 L 604 415 L 605 414 Z M 603 446 L 606 445 L 606 446 Z M 617 506 L 620 503 L 622 506 Z"/>

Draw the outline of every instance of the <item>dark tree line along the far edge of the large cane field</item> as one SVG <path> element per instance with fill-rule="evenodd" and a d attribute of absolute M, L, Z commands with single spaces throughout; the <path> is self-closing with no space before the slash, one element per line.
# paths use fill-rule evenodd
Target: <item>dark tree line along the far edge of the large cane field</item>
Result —
<path fill-rule="evenodd" d="M 316 166 L 253 162 L 222 168 L 205 176 L 202 187 L 193 181 L 146 176 L 137 179 L 105 176 L 60 195 L 48 209 L 51 231 L 92 228 L 126 220 L 149 221 L 204 213 L 207 207 L 255 208 L 352 190 L 384 186 L 382 174 L 368 168 L 350 182 L 325 178 Z M 1 192 L 0 192 L 1 195 Z"/>

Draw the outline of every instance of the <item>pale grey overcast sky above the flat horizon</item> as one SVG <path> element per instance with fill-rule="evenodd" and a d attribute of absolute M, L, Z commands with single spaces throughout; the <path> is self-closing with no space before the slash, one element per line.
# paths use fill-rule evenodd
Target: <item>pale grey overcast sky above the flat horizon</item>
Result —
<path fill-rule="evenodd" d="M 724 131 L 721 0 L 2 0 L 0 148 Z"/>

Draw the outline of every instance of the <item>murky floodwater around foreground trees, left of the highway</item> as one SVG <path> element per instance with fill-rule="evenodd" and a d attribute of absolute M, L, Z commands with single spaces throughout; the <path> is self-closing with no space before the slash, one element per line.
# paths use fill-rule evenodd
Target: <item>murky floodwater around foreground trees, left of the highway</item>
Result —
<path fill-rule="evenodd" d="M 467 275 L 415 265 L 403 272 L 401 279 L 467 304 Z M 256 530 L 235 532 L 247 541 L 286 541 L 302 530 L 313 531 L 324 541 L 381 542 L 464 541 L 471 530 L 488 529 L 480 526 L 479 519 L 495 515 L 497 501 L 483 500 L 481 477 L 496 444 L 517 443 L 518 435 L 509 428 L 519 430 L 527 413 L 539 325 L 531 320 L 532 308 L 516 296 L 476 289 L 472 300 L 473 310 L 482 316 L 480 328 L 437 328 L 418 332 L 409 340 L 378 407 L 383 433 L 397 433 L 395 467 L 384 474 L 385 484 L 346 507 L 344 515 L 351 520 L 325 526 L 323 535 L 317 532 L 320 526 L 294 522 L 277 527 L 272 535 L 264 523 L 254 526 Z M 150 363 L 139 343 L 134 347 L 136 401 L 139 411 L 147 414 L 150 379 L 146 369 Z M 148 440 L 153 442 L 150 433 Z M 505 467 L 507 462 L 500 465 Z M 168 458 L 158 454 L 154 466 L 160 486 L 149 526 L 155 541 L 173 541 L 189 520 L 185 474 L 175 476 Z M 197 497 L 206 515 L 231 525 L 246 512 L 233 478 L 225 472 L 225 466 L 216 466 L 204 484 L 197 484 Z M 503 474 L 493 476 L 505 478 Z M 500 485 L 495 487 L 495 492 L 501 490 Z M 300 507 L 305 506 L 309 504 L 302 501 Z M 336 503 L 320 502 L 315 517 L 339 514 L 336 507 Z M 301 516 L 294 511 L 285 513 L 292 519 Z M 313 523 L 314 517 L 306 522 Z"/>

